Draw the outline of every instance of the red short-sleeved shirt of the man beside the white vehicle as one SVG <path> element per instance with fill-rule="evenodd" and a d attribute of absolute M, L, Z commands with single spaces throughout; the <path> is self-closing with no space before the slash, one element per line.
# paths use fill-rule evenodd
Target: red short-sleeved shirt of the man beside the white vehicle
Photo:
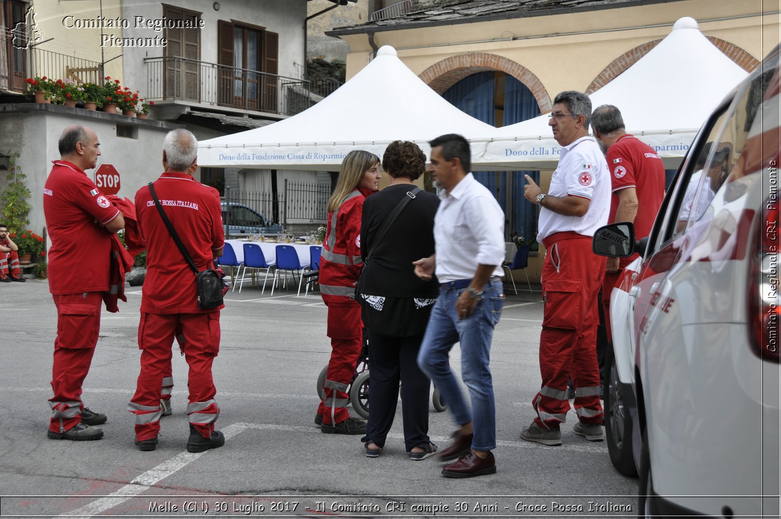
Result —
<path fill-rule="evenodd" d="M 615 212 L 619 208 L 616 193 L 635 188 L 638 202 L 635 235 L 644 238 L 651 234 L 656 213 L 665 197 L 665 165 L 662 159 L 651 146 L 631 134 L 625 134 L 608 149 L 608 169 L 613 188 L 608 222 L 615 222 Z"/>

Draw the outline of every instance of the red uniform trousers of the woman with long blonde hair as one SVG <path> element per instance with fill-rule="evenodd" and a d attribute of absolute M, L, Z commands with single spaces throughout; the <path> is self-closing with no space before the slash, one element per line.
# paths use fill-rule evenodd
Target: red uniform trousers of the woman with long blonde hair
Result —
<path fill-rule="evenodd" d="M 331 358 L 326 375 L 326 397 L 320 402 L 317 413 L 323 415 L 323 424 L 333 425 L 350 417 L 347 404 L 350 396 L 348 385 L 355 374 L 355 364 L 361 355 L 363 324 L 361 306 L 357 301 L 344 298 L 345 302 L 326 302 L 328 306 L 328 336 L 331 338 Z"/>

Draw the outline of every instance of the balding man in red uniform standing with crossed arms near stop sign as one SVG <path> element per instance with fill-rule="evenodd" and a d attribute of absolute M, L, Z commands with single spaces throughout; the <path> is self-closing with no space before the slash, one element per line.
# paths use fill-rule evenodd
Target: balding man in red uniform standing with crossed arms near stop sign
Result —
<path fill-rule="evenodd" d="M 105 423 L 106 417 L 84 407 L 81 385 L 98 344 L 103 295 L 109 291 L 111 233 L 125 227 L 125 220 L 84 173 L 97 166 L 101 154 L 95 131 L 67 127 L 59 138 L 59 153 L 61 159 L 54 161 L 44 187 L 52 240 L 49 292 L 57 306 L 48 437 L 97 440 L 103 431 L 93 426 Z"/>

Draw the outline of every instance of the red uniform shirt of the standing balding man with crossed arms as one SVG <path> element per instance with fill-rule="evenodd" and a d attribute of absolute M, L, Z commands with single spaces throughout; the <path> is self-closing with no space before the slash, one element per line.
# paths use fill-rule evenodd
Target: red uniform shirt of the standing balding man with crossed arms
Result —
<path fill-rule="evenodd" d="M 111 233 L 102 225 L 119 215 L 79 166 L 53 161 L 44 187 L 49 292 L 76 294 L 109 290 Z M 98 224 L 95 223 L 98 221 Z"/>

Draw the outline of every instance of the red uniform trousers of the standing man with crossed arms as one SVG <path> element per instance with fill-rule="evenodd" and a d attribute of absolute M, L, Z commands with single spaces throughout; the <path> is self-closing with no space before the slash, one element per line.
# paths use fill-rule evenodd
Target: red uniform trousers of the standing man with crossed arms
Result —
<path fill-rule="evenodd" d="M 54 340 L 52 420 L 49 430 L 62 433 L 81 421 L 81 385 L 90 370 L 100 331 L 103 292 L 52 294 L 57 307 Z"/>

